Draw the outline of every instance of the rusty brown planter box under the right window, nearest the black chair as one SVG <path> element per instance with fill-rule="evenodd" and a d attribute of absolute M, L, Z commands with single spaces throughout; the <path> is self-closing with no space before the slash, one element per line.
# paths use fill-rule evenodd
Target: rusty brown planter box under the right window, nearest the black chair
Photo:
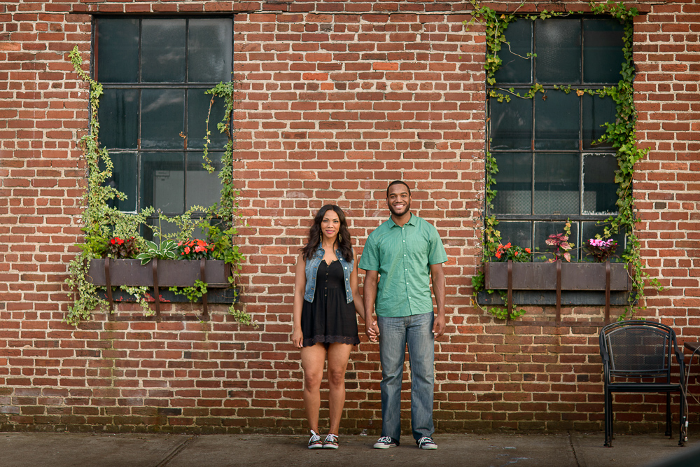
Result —
<path fill-rule="evenodd" d="M 605 293 L 605 322 L 610 318 L 610 293 L 632 290 L 624 263 L 484 263 L 484 288 L 507 291 L 507 309 L 512 309 L 513 291 L 556 293 L 556 322 L 561 321 L 561 293 Z M 601 294 L 602 295 L 602 294 Z M 619 297 L 615 297 L 616 302 Z"/>

